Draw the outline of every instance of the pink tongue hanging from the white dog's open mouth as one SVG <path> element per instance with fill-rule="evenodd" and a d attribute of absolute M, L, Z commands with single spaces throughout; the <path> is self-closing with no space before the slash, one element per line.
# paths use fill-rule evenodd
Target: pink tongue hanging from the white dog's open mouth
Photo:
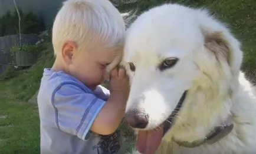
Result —
<path fill-rule="evenodd" d="M 154 130 L 140 130 L 137 134 L 136 148 L 140 153 L 153 154 L 163 138 L 163 126 Z"/>

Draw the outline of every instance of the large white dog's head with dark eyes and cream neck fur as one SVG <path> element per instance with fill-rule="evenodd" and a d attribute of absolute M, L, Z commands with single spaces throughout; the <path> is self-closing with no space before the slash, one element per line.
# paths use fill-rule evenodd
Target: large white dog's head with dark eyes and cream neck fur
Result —
<path fill-rule="evenodd" d="M 122 63 L 131 86 L 128 123 L 137 130 L 162 129 L 174 113 L 169 135 L 204 138 L 228 115 L 241 61 L 237 39 L 207 11 L 175 4 L 150 9 L 127 30 Z"/>

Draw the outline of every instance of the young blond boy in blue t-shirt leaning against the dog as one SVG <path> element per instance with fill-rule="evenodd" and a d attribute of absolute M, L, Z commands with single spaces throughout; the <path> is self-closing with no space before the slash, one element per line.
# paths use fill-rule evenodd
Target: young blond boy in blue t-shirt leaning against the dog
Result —
<path fill-rule="evenodd" d="M 117 128 L 129 83 L 124 69 L 114 68 L 124 31 L 107 0 L 63 3 L 52 27 L 55 62 L 44 69 L 38 93 L 42 154 L 124 153 Z M 107 78 L 110 92 L 100 86 Z"/>

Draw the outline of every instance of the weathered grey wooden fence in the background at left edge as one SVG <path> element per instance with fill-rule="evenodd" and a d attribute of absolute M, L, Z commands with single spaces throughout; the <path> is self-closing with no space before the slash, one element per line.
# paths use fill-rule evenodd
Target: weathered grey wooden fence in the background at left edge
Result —
<path fill-rule="evenodd" d="M 21 45 L 34 45 L 38 41 L 36 34 L 22 34 Z M 7 35 L 0 37 L 0 75 L 8 66 L 14 65 L 14 57 L 11 55 L 12 46 L 19 45 L 19 35 Z"/>

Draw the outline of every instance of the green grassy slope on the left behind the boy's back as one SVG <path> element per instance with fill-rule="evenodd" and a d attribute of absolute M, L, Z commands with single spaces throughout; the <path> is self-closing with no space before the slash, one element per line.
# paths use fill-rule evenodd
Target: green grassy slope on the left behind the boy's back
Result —
<path fill-rule="evenodd" d="M 37 104 L 28 103 L 40 85 L 44 67 L 52 65 L 51 44 L 27 70 L 9 69 L 0 76 L 0 153 L 40 153 Z"/>

